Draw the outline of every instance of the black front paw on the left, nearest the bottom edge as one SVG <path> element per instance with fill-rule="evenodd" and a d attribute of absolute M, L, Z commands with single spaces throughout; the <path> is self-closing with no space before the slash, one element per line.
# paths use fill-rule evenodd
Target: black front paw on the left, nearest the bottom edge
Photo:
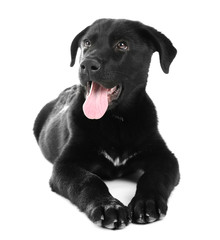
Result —
<path fill-rule="evenodd" d="M 86 212 L 94 223 L 108 229 L 122 229 L 130 222 L 127 207 L 115 198 L 91 204 Z"/>

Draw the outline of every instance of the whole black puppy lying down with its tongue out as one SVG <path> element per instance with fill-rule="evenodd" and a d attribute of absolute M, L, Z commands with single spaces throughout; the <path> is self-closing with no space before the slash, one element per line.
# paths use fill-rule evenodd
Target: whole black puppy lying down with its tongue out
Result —
<path fill-rule="evenodd" d="M 159 52 L 168 73 L 176 49 L 152 27 L 113 19 L 97 20 L 74 38 L 71 66 L 79 47 L 81 84 L 46 104 L 34 125 L 53 163 L 51 189 L 105 228 L 159 220 L 178 184 L 179 167 L 158 132 L 145 87 L 152 54 Z M 126 207 L 103 180 L 136 172 L 136 194 Z"/>

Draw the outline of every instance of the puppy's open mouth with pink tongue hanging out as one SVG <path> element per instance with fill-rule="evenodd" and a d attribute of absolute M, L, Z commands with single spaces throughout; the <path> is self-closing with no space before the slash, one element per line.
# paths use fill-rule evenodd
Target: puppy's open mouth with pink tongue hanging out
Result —
<path fill-rule="evenodd" d="M 86 100 L 83 104 L 83 112 L 89 119 L 100 119 L 108 109 L 108 106 L 117 100 L 122 92 L 120 84 L 113 88 L 105 88 L 97 82 L 87 82 Z"/>

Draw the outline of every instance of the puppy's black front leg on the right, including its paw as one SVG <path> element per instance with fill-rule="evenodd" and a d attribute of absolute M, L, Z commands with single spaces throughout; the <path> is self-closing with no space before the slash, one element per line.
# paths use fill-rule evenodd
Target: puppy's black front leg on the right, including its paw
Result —
<path fill-rule="evenodd" d="M 128 208 L 132 222 L 151 223 L 166 215 L 168 198 L 179 181 L 178 162 L 168 149 L 155 149 L 140 154 L 137 163 L 144 174 Z"/>

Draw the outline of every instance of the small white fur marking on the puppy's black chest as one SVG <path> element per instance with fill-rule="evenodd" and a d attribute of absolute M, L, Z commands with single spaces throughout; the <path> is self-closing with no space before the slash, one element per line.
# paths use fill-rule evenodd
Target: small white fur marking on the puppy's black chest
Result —
<path fill-rule="evenodd" d="M 115 153 L 108 153 L 105 150 L 100 151 L 100 155 L 104 156 L 106 160 L 110 161 L 115 167 L 120 167 L 126 165 L 126 163 L 138 155 L 138 152 L 134 152 L 132 154 L 115 154 Z"/>

